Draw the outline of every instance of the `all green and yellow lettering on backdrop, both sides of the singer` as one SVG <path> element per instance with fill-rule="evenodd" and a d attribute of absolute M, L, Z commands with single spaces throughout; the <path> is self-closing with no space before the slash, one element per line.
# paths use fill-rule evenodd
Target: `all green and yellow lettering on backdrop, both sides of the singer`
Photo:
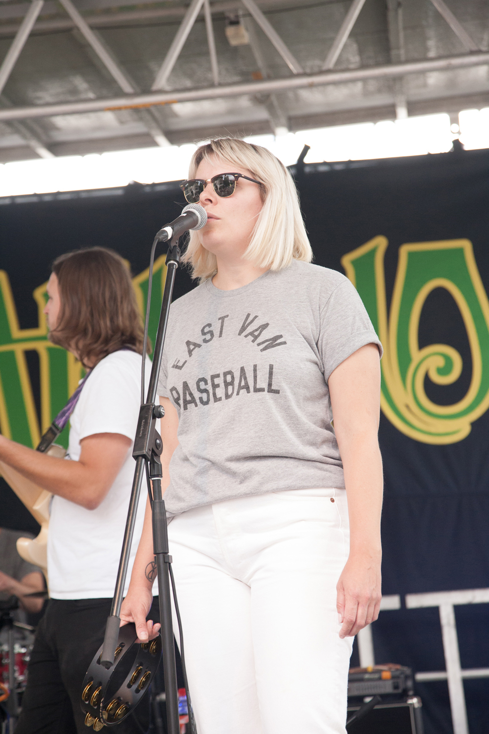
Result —
<path fill-rule="evenodd" d="M 381 407 L 405 435 L 424 443 L 456 443 L 489 407 L 489 302 L 466 239 L 403 244 L 387 318 L 383 258 L 387 240 L 379 236 L 348 252 L 342 265 L 374 324 L 384 347 Z M 163 295 L 164 255 L 155 263 L 150 335 L 154 338 Z M 144 316 L 149 273 L 133 279 Z M 451 385 L 462 372 L 462 357 L 448 344 L 419 348 L 419 318 L 428 295 L 445 288 L 460 310 L 471 349 L 472 374 L 466 395 L 452 405 L 435 404 L 424 390 L 428 377 L 436 385 Z M 0 430 L 26 446 L 37 446 L 73 393 L 81 366 L 73 355 L 47 338 L 43 316 L 45 283 L 34 291 L 38 326 L 18 324 L 8 276 L 0 271 Z M 40 417 L 37 418 L 26 353 L 37 352 L 40 366 Z M 65 429 L 60 442 L 67 446 Z"/>

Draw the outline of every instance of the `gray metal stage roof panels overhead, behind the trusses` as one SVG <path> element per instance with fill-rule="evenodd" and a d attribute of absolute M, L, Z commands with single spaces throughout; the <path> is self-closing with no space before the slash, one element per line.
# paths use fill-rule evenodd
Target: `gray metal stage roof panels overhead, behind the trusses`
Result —
<path fill-rule="evenodd" d="M 194 0 L 195 1 L 195 0 Z M 354 0 L 359 3 L 359 0 Z M 455 16 L 451 25 L 439 10 Z M 361 4 L 361 2 L 360 2 Z M 435 4 L 438 6 L 435 7 Z M 350 1 L 264 0 L 266 21 L 307 74 L 323 68 Z M 0 59 L 7 55 L 30 4 L 0 1 Z M 188 5 L 180 0 L 117 4 L 76 0 L 76 9 L 135 92 L 150 92 Z M 210 4 L 218 82 L 241 84 L 290 79 L 293 72 L 243 4 Z M 231 46 L 226 29 L 241 23 L 249 43 Z M 456 23 L 459 25 L 457 26 Z M 460 29 L 462 29 L 460 31 Z M 457 34 L 458 30 L 458 34 Z M 464 36 L 465 34 L 465 36 Z M 473 50 L 468 50 L 469 41 Z M 365 0 L 334 70 L 461 56 L 489 48 L 486 0 Z M 1 73 L 1 68 L 0 68 Z M 0 161 L 41 156 L 182 144 L 213 134 L 250 135 L 308 127 L 394 119 L 489 105 L 487 63 L 470 68 L 410 73 L 403 78 L 323 84 L 303 89 L 219 98 L 213 84 L 205 18 L 197 15 L 163 89 L 208 90 L 209 98 L 142 109 L 100 110 L 0 122 Z M 48 0 L 0 96 L 0 107 L 120 98 L 93 43 L 63 9 Z M 33 152 L 36 151 L 36 152 Z"/>

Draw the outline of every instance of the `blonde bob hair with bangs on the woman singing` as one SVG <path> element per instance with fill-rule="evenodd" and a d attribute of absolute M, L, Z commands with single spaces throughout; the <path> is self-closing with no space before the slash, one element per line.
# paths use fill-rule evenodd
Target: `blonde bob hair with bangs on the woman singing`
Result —
<path fill-rule="evenodd" d="M 243 257 L 254 266 L 280 270 L 293 260 L 312 261 L 312 250 L 302 220 L 297 189 L 287 168 L 273 153 L 260 145 L 219 138 L 201 145 L 192 156 L 188 178 L 196 177 L 201 161 L 223 164 L 223 173 L 250 172 L 251 178 L 262 182 L 263 206 L 254 225 Z M 238 181 L 239 186 L 239 181 Z M 191 275 L 200 283 L 217 272 L 216 255 L 205 250 L 198 232 L 191 232 L 183 262 L 191 267 Z"/>

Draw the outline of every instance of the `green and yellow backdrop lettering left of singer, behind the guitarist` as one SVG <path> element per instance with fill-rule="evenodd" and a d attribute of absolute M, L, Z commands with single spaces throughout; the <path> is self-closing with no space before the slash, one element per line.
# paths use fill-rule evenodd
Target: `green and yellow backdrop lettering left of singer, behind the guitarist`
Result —
<path fill-rule="evenodd" d="M 166 277 L 165 255 L 155 262 L 152 277 L 150 336 L 156 334 Z M 139 309 L 144 316 L 149 269 L 133 278 Z M 6 272 L 0 271 L 0 431 L 4 436 L 34 448 L 76 390 L 82 368 L 73 355 L 48 341 L 43 308 L 46 283 L 34 291 L 38 325 L 21 329 Z M 26 354 L 37 352 L 40 369 L 40 424 Z M 58 442 L 67 447 L 68 427 Z"/>

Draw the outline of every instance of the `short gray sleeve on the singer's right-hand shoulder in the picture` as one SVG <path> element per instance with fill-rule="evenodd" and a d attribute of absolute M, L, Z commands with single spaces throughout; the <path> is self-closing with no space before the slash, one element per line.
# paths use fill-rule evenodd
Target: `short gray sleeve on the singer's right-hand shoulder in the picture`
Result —
<path fill-rule="evenodd" d="M 324 379 L 347 357 L 365 344 L 376 344 L 382 357 L 382 344 L 355 286 L 345 278 L 334 289 L 320 313 L 317 349 L 324 367 Z"/>

